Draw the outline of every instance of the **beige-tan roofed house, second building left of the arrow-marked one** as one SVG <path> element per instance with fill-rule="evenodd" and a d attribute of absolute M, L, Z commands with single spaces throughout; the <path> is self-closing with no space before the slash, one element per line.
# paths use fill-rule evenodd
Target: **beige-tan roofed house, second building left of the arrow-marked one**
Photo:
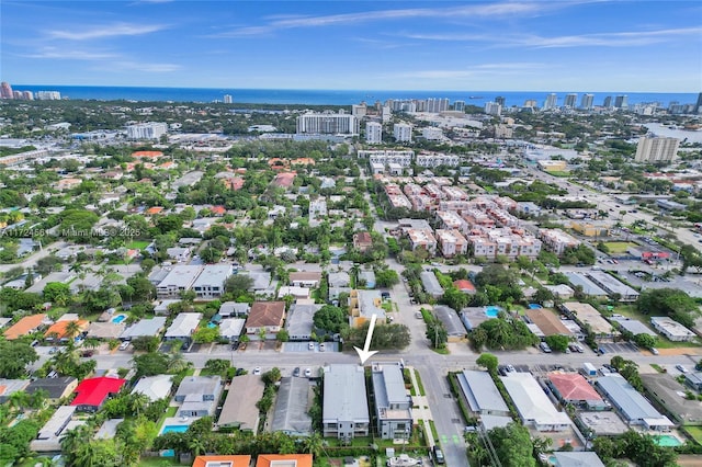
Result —
<path fill-rule="evenodd" d="M 265 385 L 258 375 L 241 375 L 231 378 L 217 425 L 257 433 L 259 409 L 256 403 L 263 397 L 263 389 L 265 389 Z"/>

